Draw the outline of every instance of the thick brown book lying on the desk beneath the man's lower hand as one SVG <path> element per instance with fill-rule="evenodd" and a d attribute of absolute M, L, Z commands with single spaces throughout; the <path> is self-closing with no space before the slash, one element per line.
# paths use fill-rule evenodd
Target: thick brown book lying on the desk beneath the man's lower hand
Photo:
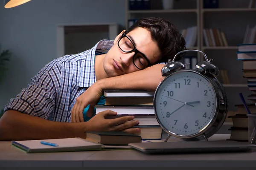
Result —
<path fill-rule="evenodd" d="M 141 142 L 141 136 L 122 131 L 88 131 L 86 140 L 105 145 L 127 145 Z"/>

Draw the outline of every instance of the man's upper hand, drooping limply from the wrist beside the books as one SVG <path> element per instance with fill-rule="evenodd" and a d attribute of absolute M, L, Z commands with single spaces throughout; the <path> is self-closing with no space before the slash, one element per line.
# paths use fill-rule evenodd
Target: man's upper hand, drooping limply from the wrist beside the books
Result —
<path fill-rule="evenodd" d="M 83 111 L 89 104 L 87 116 L 92 117 L 94 106 L 99 102 L 102 94 L 102 88 L 95 82 L 81 96 L 76 98 L 76 103 L 71 110 L 71 122 L 84 122 Z"/>

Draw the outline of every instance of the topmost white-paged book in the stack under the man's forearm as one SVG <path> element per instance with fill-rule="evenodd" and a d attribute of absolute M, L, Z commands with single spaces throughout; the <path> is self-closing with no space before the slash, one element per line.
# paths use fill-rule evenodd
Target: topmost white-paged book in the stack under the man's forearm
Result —
<path fill-rule="evenodd" d="M 154 91 L 121 91 L 121 90 L 111 90 L 104 91 L 105 97 L 154 97 Z"/>

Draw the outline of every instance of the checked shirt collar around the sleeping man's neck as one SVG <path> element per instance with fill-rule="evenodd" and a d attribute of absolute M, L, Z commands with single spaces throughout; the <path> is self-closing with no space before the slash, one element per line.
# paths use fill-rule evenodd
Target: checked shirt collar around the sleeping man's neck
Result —
<path fill-rule="evenodd" d="M 96 75 L 95 75 L 95 68 L 94 68 L 94 61 L 95 61 L 95 54 L 106 54 L 108 53 L 109 49 L 113 46 L 113 40 L 100 40 L 97 44 L 87 50 L 84 55 L 84 64 L 81 65 L 81 74 L 79 77 L 79 87 L 90 87 L 93 83 L 96 82 Z"/>

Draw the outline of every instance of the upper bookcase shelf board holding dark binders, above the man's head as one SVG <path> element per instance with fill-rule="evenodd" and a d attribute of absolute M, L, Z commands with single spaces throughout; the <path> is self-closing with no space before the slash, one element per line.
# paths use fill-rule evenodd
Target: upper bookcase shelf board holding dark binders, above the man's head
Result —
<path fill-rule="evenodd" d="M 197 9 L 170 9 L 170 10 L 130 10 L 130 14 L 152 14 L 152 13 L 177 13 L 177 12 L 198 12 Z"/>

